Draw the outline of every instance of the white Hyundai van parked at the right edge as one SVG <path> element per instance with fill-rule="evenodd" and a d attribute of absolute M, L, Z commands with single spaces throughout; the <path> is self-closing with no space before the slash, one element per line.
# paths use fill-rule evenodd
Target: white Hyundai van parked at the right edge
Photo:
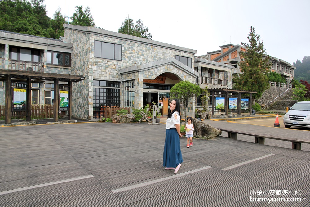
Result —
<path fill-rule="evenodd" d="M 308 127 L 310 128 L 310 101 L 297 102 L 283 117 L 285 128 Z"/>

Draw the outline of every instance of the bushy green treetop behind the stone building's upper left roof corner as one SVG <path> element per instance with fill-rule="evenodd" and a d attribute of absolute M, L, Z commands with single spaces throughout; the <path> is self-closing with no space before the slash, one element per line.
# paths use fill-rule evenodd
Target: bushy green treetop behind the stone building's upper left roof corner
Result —
<path fill-rule="evenodd" d="M 72 25 L 80 25 L 86 27 L 94 27 L 95 22 L 93 16 L 91 15 L 91 10 L 87 6 L 86 9 L 83 11 L 83 6 L 75 6 L 76 10 L 71 16 L 71 24 Z"/>

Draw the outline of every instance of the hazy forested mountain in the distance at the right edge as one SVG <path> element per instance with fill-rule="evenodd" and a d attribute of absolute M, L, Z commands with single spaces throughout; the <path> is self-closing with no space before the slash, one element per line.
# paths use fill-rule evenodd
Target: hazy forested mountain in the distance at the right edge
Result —
<path fill-rule="evenodd" d="M 310 56 L 304 56 L 302 61 L 297 60 L 293 66 L 296 67 L 294 78 L 298 81 L 305 80 L 310 83 Z"/>

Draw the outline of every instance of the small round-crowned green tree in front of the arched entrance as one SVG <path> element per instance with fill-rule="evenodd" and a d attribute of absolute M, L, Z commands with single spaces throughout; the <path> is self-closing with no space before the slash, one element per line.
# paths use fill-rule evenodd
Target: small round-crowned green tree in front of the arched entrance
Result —
<path fill-rule="evenodd" d="M 186 112 L 188 110 L 188 101 L 190 98 L 197 97 L 201 94 L 200 87 L 195 85 L 188 80 L 180 81 L 171 87 L 170 97 L 171 99 L 179 99 L 182 108 L 184 109 L 184 119 L 186 120 Z M 185 125 L 185 122 L 184 122 Z"/>

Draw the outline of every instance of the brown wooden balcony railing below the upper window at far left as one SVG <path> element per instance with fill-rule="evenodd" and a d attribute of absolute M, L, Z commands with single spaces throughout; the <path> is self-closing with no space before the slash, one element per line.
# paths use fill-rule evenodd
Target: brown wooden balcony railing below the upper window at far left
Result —
<path fill-rule="evenodd" d="M 43 62 L 28 62 L 28 61 L 15 61 L 9 60 L 9 70 L 24 70 L 34 72 L 44 72 Z"/>

